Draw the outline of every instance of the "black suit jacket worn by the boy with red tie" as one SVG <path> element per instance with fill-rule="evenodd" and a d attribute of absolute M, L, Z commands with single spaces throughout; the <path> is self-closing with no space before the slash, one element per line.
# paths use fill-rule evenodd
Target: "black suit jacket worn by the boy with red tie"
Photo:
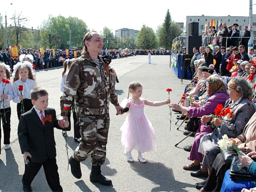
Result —
<path fill-rule="evenodd" d="M 55 109 L 47 108 L 45 118 L 51 116 L 52 121 L 45 121 L 45 126 L 41 122 L 35 108 L 23 113 L 20 116 L 18 125 L 18 139 L 20 150 L 29 151 L 32 162 L 42 163 L 49 157 L 56 157 L 56 148 L 53 128 L 62 129 L 58 126 Z"/>

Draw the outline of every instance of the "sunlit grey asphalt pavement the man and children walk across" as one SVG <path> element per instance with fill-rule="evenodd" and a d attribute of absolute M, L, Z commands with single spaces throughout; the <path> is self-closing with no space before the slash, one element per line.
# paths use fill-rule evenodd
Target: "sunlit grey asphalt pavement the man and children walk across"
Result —
<path fill-rule="evenodd" d="M 111 67 L 115 69 L 120 81 L 120 83 L 116 84 L 119 102 L 127 97 L 128 85 L 132 81 L 138 81 L 143 85 L 142 97 L 145 99 L 150 101 L 168 99 L 166 88 L 171 88 L 171 102 L 179 102 L 184 87 L 189 81 L 183 80 L 183 84 L 181 84 L 180 79 L 177 79 L 172 68 L 169 68 L 169 55 L 152 55 L 152 64 L 147 62 L 147 55 L 115 59 L 111 62 Z M 36 73 L 37 84 L 48 91 L 49 107 L 55 108 L 57 118 L 60 116 L 61 73 L 61 68 L 42 70 Z M 9 150 L 4 150 L 3 148 L 3 131 L 1 140 L 0 191 L 4 192 L 22 191 L 21 179 L 24 172 L 24 160 L 17 140 L 18 118 L 16 104 L 11 102 L 11 108 L 11 148 Z M 135 161 L 128 162 L 120 142 L 121 131 L 119 130 L 127 114 L 116 116 L 114 106 L 110 106 L 111 124 L 108 135 L 107 159 L 105 165 L 102 166 L 102 174 L 112 180 L 112 186 L 103 186 L 99 183 L 90 182 L 90 157 L 81 162 L 81 179 L 73 177 L 70 167 L 68 168 L 68 156 L 73 154 L 78 143 L 73 140 L 73 130 L 68 132 L 67 156 L 66 141 L 62 137 L 61 130 L 55 129 L 58 172 L 64 191 L 198 191 L 194 185 L 203 181 L 204 178 L 191 177 L 189 171 L 182 169 L 183 165 L 191 163 L 191 161 L 187 160 L 189 152 L 184 151 L 183 146 L 191 144 L 193 137 L 187 138 L 175 147 L 175 144 L 185 137 L 183 135 L 183 125 L 179 130 L 177 130 L 178 126 L 175 125 L 177 114 L 172 113 L 172 126 L 170 130 L 170 111 L 168 105 L 160 107 L 145 106 L 144 111 L 155 129 L 157 151 L 143 154 L 147 163 L 140 163 L 136 158 L 137 152 L 132 151 Z M 71 123 L 73 124 L 73 122 Z M 35 177 L 31 186 L 34 191 L 50 191 L 43 169 Z"/>

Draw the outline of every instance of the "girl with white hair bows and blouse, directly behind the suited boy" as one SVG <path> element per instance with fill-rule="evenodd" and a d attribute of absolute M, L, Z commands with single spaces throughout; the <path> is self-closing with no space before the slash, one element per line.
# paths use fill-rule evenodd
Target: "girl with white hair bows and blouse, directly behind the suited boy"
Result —
<path fill-rule="evenodd" d="M 17 116 L 20 120 L 20 115 L 33 107 L 30 91 L 37 87 L 37 84 L 32 74 L 33 66 L 29 61 L 17 63 L 13 70 L 13 101 L 17 103 Z"/>

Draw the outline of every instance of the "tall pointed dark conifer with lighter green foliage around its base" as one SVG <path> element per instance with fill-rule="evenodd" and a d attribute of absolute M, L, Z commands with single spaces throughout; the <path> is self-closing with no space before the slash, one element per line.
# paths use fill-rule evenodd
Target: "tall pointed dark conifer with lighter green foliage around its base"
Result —
<path fill-rule="evenodd" d="M 181 32 L 180 27 L 172 21 L 172 17 L 168 9 L 164 22 L 157 27 L 158 46 L 171 49 L 172 40 L 179 36 Z"/>

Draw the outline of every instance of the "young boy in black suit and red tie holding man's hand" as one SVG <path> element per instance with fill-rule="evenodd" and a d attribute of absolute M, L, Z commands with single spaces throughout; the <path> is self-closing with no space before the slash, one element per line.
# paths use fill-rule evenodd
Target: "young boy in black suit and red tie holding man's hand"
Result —
<path fill-rule="evenodd" d="M 56 148 L 53 128 L 62 129 L 58 125 L 56 112 L 48 106 L 48 93 L 41 87 L 31 91 L 31 100 L 34 107 L 20 116 L 18 125 L 18 139 L 23 158 L 31 158 L 29 166 L 25 165 L 25 172 L 22 178 L 23 190 L 32 191 L 31 183 L 41 166 L 47 183 L 52 191 L 63 191 L 58 175 L 56 164 Z M 69 122 L 65 121 L 64 126 L 68 127 Z M 32 168 L 30 168 L 32 166 Z"/>

